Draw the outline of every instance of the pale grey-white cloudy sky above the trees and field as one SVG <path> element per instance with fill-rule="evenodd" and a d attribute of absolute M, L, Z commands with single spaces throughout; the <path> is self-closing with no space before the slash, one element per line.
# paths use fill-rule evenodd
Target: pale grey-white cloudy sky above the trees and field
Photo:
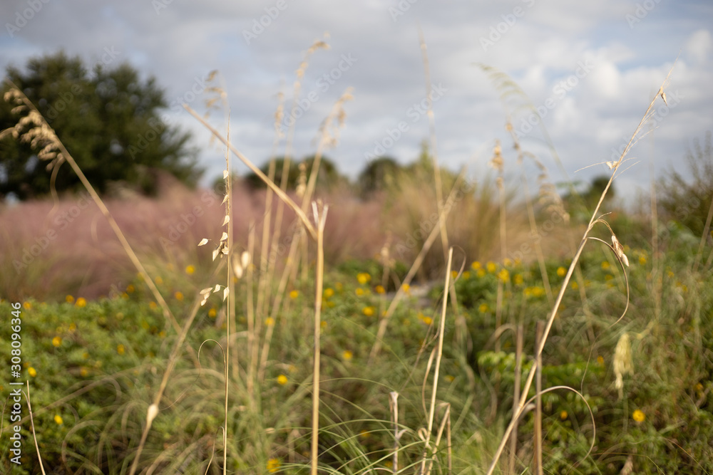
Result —
<path fill-rule="evenodd" d="M 204 79 L 220 71 L 232 142 L 258 165 L 272 150 L 278 93 L 292 104 L 295 71 L 317 40 L 329 49 L 314 52 L 302 78 L 294 155 L 314 153 L 320 122 L 352 87 L 339 144 L 327 155 L 352 177 L 374 155 L 414 160 L 429 137 L 419 29 L 428 46 L 438 157 L 446 167 L 468 165 L 482 176 L 501 140 L 506 173 L 517 177 L 505 130 L 512 113 L 523 147 L 540 157 L 553 181 L 565 174 L 588 181 L 607 167 L 580 169 L 612 160 L 674 61 L 668 107 L 656 103 L 655 130 L 632 150 L 639 163 L 621 175 L 618 189 L 646 189 L 651 164 L 657 174 L 679 164 L 693 140 L 713 130 L 709 1 L 4 0 L 0 15 L 3 70 L 59 48 L 88 64 L 128 61 L 145 77 L 154 75 L 174 106 L 187 102 L 200 112 L 210 97 L 200 93 Z M 528 125 L 540 118 L 513 110 L 522 99 L 504 107 L 478 64 L 506 73 L 528 95 L 563 169 L 539 125 Z M 222 152 L 208 133 L 178 107 L 165 116 L 194 132 L 205 181 L 219 175 Z M 222 126 L 220 113 L 211 120 Z M 284 140 L 280 147 L 278 154 Z"/>

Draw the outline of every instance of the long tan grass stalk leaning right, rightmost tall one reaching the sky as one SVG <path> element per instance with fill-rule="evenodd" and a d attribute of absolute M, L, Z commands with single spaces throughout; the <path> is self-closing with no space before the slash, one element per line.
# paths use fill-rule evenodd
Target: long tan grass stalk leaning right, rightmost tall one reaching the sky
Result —
<path fill-rule="evenodd" d="M 666 76 L 666 79 L 664 80 L 664 85 L 662 85 L 662 89 L 664 88 L 665 85 L 668 83 L 668 79 L 671 75 L 671 71 L 669 71 L 668 75 Z M 588 239 L 593 239 L 590 238 L 589 233 L 592 231 L 593 226 L 600 221 L 600 219 L 597 218 L 597 214 L 599 213 L 599 209 L 602 206 L 602 202 L 604 202 L 604 199 L 606 197 L 607 192 L 609 191 L 612 182 L 614 181 L 614 177 L 616 175 L 617 169 L 621 165 L 622 161 L 624 160 L 624 157 L 627 155 L 629 152 L 632 142 L 635 140 L 635 137 L 637 137 L 638 133 L 640 130 L 642 130 L 642 127 L 647 123 L 648 120 L 652 118 L 651 111 L 654 107 L 654 103 L 656 102 L 657 98 L 659 95 L 656 95 L 656 97 L 651 101 L 649 104 L 649 107 L 646 110 L 646 113 L 644 114 L 644 117 L 642 120 L 639 122 L 639 125 L 637 126 L 636 130 L 634 131 L 630 141 L 628 142 L 627 146 L 625 147 L 624 151 L 622 152 L 622 155 L 619 157 L 619 160 L 617 164 L 614 167 L 614 171 L 612 172 L 612 176 L 609 179 L 609 182 L 607 182 L 607 186 L 605 189 L 602 191 L 602 194 L 600 196 L 599 202 L 597 202 L 597 206 L 595 207 L 595 210 L 592 214 L 592 217 L 590 219 L 590 222 L 587 226 L 587 229 L 585 230 L 585 233 L 582 237 L 582 240 L 580 241 L 580 245 L 577 249 L 577 252 L 575 256 L 573 256 L 572 263 L 570 263 L 570 267 L 568 268 L 567 273 L 565 274 L 565 278 L 563 280 L 562 286 L 560 287 L 560 292 L 558 293 L 557 299 L 555 300 L 555 305 L 553 307 L 553 311 L 550 313 L 549 318 L 547 320 L 547 325 L 545 325 L 545 331 L 543 333 L 543 338 L 540 341 L 540 344 L 538 345 L 538 350 L 537 354 L 542 353 L 542 350 L 545 346 L 545 343 L 547 342 L 548 335 L 550 333 L 550 329 L 552 328 L 552 325 L 554 323 L 555 317 L 557 316 L 557 310 L 560 307 L 560 303 L 562 302 L 562 299 L 564 297 L 564 293 L 567 290 L 567 287 L 569 286 L 570 279 L 572 278 L 572 275 L 575 271 L 575 267 L 577 266 L 577 263 L 580 259 L 580 256 L 582 255 L 582 251 L 584 250 L 584 246 L 587 243 Z M 612 233 L 613 234 L 613 233 Z M 625 274 L 626 276 L 626 274 Z M 628 286 L 627 286 L 627 295 L 628 295 Z M 628 307 L 628 298 L 627 298 L 627 307 Z M 626 310 L 625 310 L 626 311 Z M 619 318 L 623 318 L 624 314 L 622 313 L 622 316 Z M 617 320 L 617 322 L 619 321 Z M 533 367 L 530 369 L 530 372 L 528 374 L 528 379 L 525 382 L 525 387 L 523 388 L 523 396 L 520 397 L 520 404 L 519 404 L 519 409 L 518 409 L 518 417 L 520 415 L 520 412 L 523 411 L 524 404 L 525 404 L 525 397 L 527 396 L 530 387 L 532 386 L 533 378 L 535 377 L 535 370 L 537 369 L 537 364 L 533 365 Z M 488 475 L 493 474 L 493 471 L 495 471 L 496 465 L 498 464 L 498 459 L 500 459 L 501 454 L 503 453 L 503 449 L 505 448 L 505 445 L 507 443 L 508 438 L 510 437 L 510 434 L 513 431 L 514 427 L 514 422 L 511 422 L 508 427 L 506 428 L 505 434 L 503 434 L 503 439 L 501 439 L 501 444 L 498 446 L 498 449 L 496 450 L 496 454 L 493 456 L 493 461 L 491 463 L 491 466 L 488 468 Z"/>

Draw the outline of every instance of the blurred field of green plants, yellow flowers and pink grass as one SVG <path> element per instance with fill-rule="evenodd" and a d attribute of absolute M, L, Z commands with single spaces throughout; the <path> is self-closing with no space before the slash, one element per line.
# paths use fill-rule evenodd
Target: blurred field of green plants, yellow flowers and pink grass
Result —
<path fill-rule="evenodd" d="M 329 213 L 317 245 L 295 209 L 240 179 L 227 184 L 233 242 L 218 239 L 228 229 L 220 192 L 106 199 L 161 298 L 86 196 L 0 209 L 0 312 L 21 303 L 44 469 L 307 473 L 316 332 L 319 473 L 486 473 L 598 198 L 535 201 L 501 154 L 497 145 L 497 174 L 477 180 L 436 172 L 424 147 L 377 192 L 318 187 Z M 310 197 L 306 168 L 290 199 Z M 592 236 L 623 246 L 587 241 L 575 262 L 542 354 L 543 391 L 528 391 L 541 406 L 525 405 L 495 473 L 530 473 L 538 452 L 546 473 L 713 473 L 704 177 L 661 186 L 650 208 L 605 202 L 611 233 Z M 444 212 L 448 246 L 436 236 Z M 7 366 L 10 333 L 0 328 Z M 7 473 L 41 473 L 26 416 L 21 467 L 9 462 L 4 419 Z"/>

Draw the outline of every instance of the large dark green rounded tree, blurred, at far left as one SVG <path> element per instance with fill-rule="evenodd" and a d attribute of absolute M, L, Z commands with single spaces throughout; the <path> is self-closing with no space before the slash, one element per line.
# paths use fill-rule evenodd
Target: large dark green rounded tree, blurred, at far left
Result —
<path fill-rule="evenodd" d="M 162 118 L 167 107 L 155 78 L 142 81 L 124 63 L 113 69 L 98 65 L 87 71 L 79 57 L 59 52 L 32 58 L 26 71 L 10 66 L 12 81 L 53 127 L 86 177 L 99 192 L 111 182 L 123 182 L 145 193 L 155 192 L 155 170 L 165 170 L 192 186 L 200 177 L 190 136 Z M 11 85 L 6 81 L 2 93 Z M 0 130 L 19 120 L 14 104 L 0 101 Z M 50 192 L 50 173 L 38 160 L 38 150 L 6 137 L 0 141 L 0 198 L 41 197 Z M 81 187 L 76 174 L 63 165 L 56 176 L 58 192 Z"/>

